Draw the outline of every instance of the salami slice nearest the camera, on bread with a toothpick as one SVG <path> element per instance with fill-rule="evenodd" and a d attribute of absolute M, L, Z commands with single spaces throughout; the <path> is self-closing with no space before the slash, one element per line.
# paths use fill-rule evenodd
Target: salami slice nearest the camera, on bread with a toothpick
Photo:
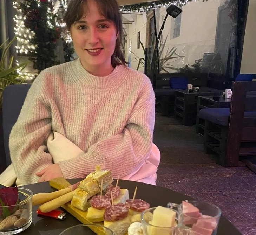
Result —
<path fill-rule="evenodd" d="M 104 221 L 118 221 L 126 218 L 129 213 L 129 205 L 125 204 L 115 204 L 108 206 L 104 212 L 103 219 Z"/>

